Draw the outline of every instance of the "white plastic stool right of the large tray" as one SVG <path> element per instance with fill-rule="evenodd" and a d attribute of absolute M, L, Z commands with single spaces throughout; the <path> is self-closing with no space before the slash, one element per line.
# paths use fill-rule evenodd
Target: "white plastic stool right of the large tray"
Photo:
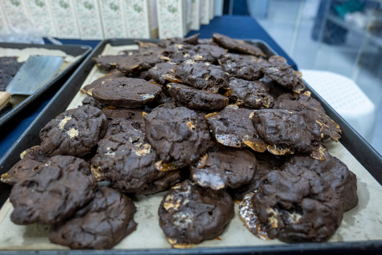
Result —
<path fill-rule="evenodd" d="M 375 106 L 351 79 L 334 72 L 300 70 L 305 80 L 368 142 L 375 122 Z"/>

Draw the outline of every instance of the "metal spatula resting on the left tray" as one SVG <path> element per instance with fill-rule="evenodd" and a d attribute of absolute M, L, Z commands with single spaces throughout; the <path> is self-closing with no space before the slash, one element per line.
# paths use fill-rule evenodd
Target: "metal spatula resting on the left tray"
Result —
<path fill-rule="evenodd" d="M 31 56 L 21 66 L 6 92 L 0 91 L 0 110 L 9 102 L 11 95 L 32 95 L 59 72 L 63 57 Z"/>

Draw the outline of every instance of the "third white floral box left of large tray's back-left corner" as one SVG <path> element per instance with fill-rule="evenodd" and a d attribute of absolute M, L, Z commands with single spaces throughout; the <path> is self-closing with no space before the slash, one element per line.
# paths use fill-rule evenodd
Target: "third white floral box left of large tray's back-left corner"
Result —
<path fill-rule="evenodd" d="M 33 27 L 49 36 L 56 37 L 53 14 L 48 0 L 24 0 L 29 10 Z"/>

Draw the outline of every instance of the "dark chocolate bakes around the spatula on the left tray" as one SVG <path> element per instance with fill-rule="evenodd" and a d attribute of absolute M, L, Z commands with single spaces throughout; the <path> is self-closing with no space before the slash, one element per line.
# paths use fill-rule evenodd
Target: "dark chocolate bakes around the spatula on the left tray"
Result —
<path fill-rule="evenodd" d="M 0 91 L 6 91 L 8 85 L 21 68 L 23 63 L 17 62 L 16 57 L 0 58 Z M 8 103 L 1 111 L 0 118 L 12 110 L 12 105 Z"/>

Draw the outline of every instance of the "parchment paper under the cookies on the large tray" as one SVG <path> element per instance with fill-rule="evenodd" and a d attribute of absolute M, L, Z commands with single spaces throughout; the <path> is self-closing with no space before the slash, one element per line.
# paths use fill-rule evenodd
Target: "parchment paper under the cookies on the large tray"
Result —
<path fill-rule="evenodd" d="M 118 54 L 121 50 L 134 49 L 135 45 L 112 47 L 106 45 L 103 55 Z M 96 66 L 90 72 L 83 86 L 96 80 L 104 72 Z M 87 97 L 85 92 L 79 91 L 72 100 L 68 109 L 81 105 Z M 357 175 L 358 206 L 344 213 L 341 226 L 329 242 L 340 241 L 367 241 L 382 240 L 382 187 L 374 180 L 369 172 L 342 146 L 341 143 L 327 141 L 328 151 L 344 162 L 349 169 Z M 162 197 L 167 191 L 154 195 L 140 195 L 132 200 L 138 211 L 134 215 L 138 223 L 137 231 L 125 237 L 114 249 L 150 249 L 170 248 L 165 234 L 159 227 L 158 207 Z M 48 240 L 49 226 L 31 224 L 16 225 L 10 220 L 13 211 L 8 201 L 0 210 L 0 249 L 68 249 L 61 245 L 51 244 Z M 277 245 L 285 244 L 278 240 L 264 241 L 255 237 L 244 226 L 238 216 L 238 205 L 235 204 L 235 216 L 226 231 L 220 235 L 221 240 L 204 241 L 195 247 L 222 247 L 222 246 L 250 246 L 250 245 Z"/>

